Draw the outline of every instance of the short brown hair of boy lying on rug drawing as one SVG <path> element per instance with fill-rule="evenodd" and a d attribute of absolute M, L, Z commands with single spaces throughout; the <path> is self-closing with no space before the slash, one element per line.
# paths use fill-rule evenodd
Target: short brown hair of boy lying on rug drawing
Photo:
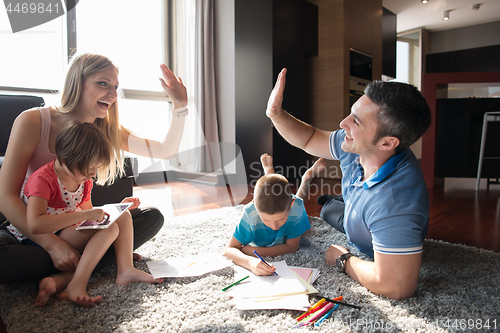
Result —
<path fill-rule="evenodd" d="M 290 184 L 282 175 L 262 176 L 255 184 L 253 200 L 259 212 L 269 215 L 285 212 L 292 203 Z"/>

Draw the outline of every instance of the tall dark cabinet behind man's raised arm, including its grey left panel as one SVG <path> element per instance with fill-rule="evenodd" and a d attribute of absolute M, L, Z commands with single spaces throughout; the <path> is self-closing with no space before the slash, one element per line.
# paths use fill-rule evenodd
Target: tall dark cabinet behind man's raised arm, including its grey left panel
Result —
<path fill-rule="evenodd" d="M 306 58 L 317 54 L 317 6 L 305 0 L 235 1 L 236 144 L 249 183 L 262 175 L 263 153 L 273 156 L 277 171 L 307 165 L 307 154 L 277 133 L 265 110 L 278 73 L 286 67 L 283 108 L 308 121 Z M 286 172 L 284 176 L 301 175 Z"/>

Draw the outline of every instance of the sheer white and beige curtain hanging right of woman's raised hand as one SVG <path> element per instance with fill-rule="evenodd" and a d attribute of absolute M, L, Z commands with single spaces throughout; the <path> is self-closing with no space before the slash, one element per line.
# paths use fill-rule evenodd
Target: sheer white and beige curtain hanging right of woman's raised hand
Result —
<path fill-rule="evenodd" d="M 176 3 L 177 75 L 188 90 L 190 115 L 177 162 L 189 171 L 221 168 L 214 59 L 214 1 Z"/>

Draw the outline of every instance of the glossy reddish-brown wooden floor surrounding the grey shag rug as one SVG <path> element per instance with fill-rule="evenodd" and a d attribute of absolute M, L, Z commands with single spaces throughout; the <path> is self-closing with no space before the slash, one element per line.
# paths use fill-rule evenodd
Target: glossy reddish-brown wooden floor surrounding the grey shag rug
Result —
<path fill-rule="evenodd" d="M 160 207 L 166 225 L 173 216 L 245 204 L 253 197 L 247 185 L 225 188 L 195 182 L 148 185 L 134 193 L 143 205 Z M 319 216 L 321 206 L 316 198 L 322 193 L 340 195 L 339 181 L 313 182 L 305 203 L 309 215 Z M 486 190 L 483 180 L 476 192 L 475 179 L 446 179 L 444 186 L 429 190 L 429 199 L 428 238 L 500 252 L 500 185 Z M 5 332 L 0 318 L 0 333 Z"/>

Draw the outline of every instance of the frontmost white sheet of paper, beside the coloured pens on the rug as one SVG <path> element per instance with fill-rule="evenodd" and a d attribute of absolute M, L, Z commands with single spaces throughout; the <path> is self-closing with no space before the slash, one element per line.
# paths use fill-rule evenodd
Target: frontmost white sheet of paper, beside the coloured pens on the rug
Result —
<path fill-rule="evenodd" d="M 233 302 L 238 310 L 297 310 L 306 311 L 309 304 L 308 295 L 293 295 L 284 297 L 269 297 L 269 298 L 233 298 Z"/>

